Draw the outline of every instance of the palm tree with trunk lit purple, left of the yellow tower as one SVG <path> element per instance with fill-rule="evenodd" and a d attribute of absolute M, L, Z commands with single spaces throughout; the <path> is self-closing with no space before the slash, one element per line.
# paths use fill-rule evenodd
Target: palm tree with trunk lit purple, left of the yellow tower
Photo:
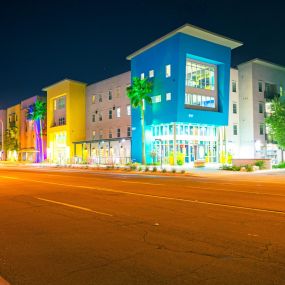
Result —
<path fill-rule="evenodd" d="M 46 102 L 37 99 L 37 101 L 34 104 L 29 106 L 26 115 L 27 119 L 33 121 L 35 124 L 38 147 L 40 147 L 40 161 L 44 161 L 42 121 L 46 117 L 46 112 L 47 112 Z"/>

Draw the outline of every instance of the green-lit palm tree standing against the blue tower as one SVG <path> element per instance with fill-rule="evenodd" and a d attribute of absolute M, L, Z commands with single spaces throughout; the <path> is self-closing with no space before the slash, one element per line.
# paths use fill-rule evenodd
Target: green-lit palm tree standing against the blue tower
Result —
<path fill-rule="evenodd" d="M 140 79 L 134 77 L 132 85 L 127 88 L 127 96 L 131 101 L 131 105 L 134 108 L 140 108 L 141 111 L 141 127 L 142 127 L 142 164 L 146 163 L 145 160 L 145 131 L 144 131 L 144 110 L 145 102 L 148 104 L 152 103 L 149 94 L 152 92 L 152 82 L 148 78 Z"/>

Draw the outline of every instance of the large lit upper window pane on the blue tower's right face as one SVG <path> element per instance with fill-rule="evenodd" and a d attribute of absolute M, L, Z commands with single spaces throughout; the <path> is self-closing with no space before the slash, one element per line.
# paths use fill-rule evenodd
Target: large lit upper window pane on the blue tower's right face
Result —
<path fill-rule="evenodd" d="M 215 90 L 215 66 L 198 63 L 187 59 L 186 86 Z"/>

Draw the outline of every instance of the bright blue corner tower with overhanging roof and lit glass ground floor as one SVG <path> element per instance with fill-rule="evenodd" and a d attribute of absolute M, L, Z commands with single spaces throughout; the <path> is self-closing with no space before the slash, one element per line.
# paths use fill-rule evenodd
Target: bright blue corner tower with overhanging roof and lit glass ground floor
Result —
<path fill-rule="evenodd" d="M 132 77 L 148 76 L 154 86 L 153 104 L 145 105 L 147 162 L 158 148 L 166 163 L 181 154 L 186 163 L 219 161 L 226 148 L 231 50 L 241 45 L 184 25 L 128 56 Z M 132 129 L 132 159 L 141 162 L 137 109 L 132 110 Z"/>

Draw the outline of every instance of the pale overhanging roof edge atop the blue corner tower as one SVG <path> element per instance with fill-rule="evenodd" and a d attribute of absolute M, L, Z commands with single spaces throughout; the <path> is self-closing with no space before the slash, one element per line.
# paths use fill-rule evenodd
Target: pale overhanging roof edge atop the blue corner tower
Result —
<path fill-rule="evenodd" d="M 183 31 L 186 29 L 192 30 L 192 33 L 191 33 L 191 31 L 188 31 L 188 33 L 186 31 Z M 163 37 L 160 37 L 159 39 L 151 42 L 150 44 L 144 46 L 143 48 L 139 49 L 138 51 L 130 54 L 129 56 L 127 56 L 127 60 L 131 60 L 132 58 L 136 57 L 137 55 L 141 54 L 142 52 L 156 46 L 157 44 L 169 39 L 170 37 L 172 37 L 178 33 L 184 33 L 184 34 L 192 35 L 194 37 L 198 37 L 198 38 L 204 39 L 206 41 L 213 42 L 213 43 L 220 44 L 220 45 L 222 45 L 221 42 L 224 42 L 223 45 L 227 46 L 231 49 L 235 49 L 235 48 L 243 45 L 243 43 L 240 41 L 236 41 L 236 40 L 230 39 L 228 37 L 225 37 L 225 36 L 210 32 L 208 30 L 205 30 L 203 28 L 200 28 L 200 27 L 186 23 L 183 26 L 175 29 L 174 31 L 172 31 L 172 32 L 164 35 Z M 200 34 L 200 36 L 199 36 L 199 34 Z"/>

